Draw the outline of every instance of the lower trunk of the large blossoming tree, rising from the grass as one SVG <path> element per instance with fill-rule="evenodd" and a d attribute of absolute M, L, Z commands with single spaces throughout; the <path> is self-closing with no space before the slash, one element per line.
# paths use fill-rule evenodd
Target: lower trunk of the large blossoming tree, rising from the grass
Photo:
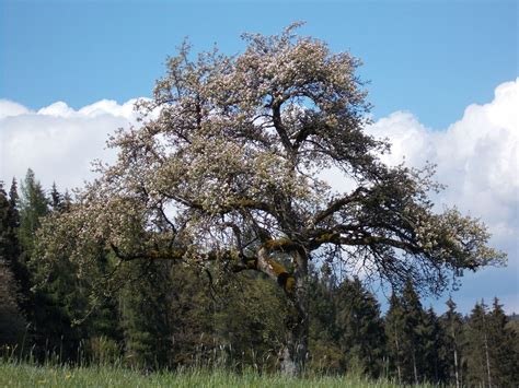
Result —
<path fill-rule="evenodd" d="M 295 254 L 295 287 L 288 295 L 290 308 L 286 317 L 287 338 L 280 354 L 281 374 L 300 376 L 308 355 L 308 257 Z"/>

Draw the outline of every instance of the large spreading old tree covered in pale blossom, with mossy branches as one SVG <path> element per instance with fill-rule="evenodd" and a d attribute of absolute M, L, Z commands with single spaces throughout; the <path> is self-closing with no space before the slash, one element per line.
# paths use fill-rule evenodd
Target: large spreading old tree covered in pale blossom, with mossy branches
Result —
<path fill-rule="evenodd" d="M 111 139 L 117 162 L 99 166 L 101 177 L 71 212 L 46 222 L 39 240 L 43 260 L 68 249 L 82 271 L 102 246 L 120 267 L 217 260 L 227 271 L 267 274 L 287 299 L 287 374 L 299 374 L 307 356 L 310 260 L 326 256 L 439 292 L 451 273 L 504 258 L 477 221 L 432 211 L 432 167 L 380 162 L 389 144 L 364 132 L 359 60 L 298 37 L 297 26 L 245 34 L 237 57 L 215 49 L 192 59 L 184 44 L 153 99 L 138 104 L 140 127 Z M 356 188 L 334 192 L 321 175 L 332 167 Z M 124 280 L 118 273 L 112 284 Z"/>

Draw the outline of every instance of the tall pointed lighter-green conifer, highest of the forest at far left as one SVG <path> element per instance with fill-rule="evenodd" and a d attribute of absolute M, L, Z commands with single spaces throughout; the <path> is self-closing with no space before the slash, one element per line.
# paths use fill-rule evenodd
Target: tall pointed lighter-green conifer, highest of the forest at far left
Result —
<path fill-rule="evenodd" d="M 85 314 L 86 296 L 81 295 L 78 282 L 77 264 L 67 257 L 58 255 L 50 263 L 42 263 L 35 251 L 36 232 L 42 221 L 50 213 L 49 200 L 32 169 L 27 171 L 22 183 L 20 198 L 19 239 L 22 248 L 20 267 L 26 273 L 27 302 L 25 311 L 31 322 L 31 336 L 35 345 L 34 355 L 43 358 L 55 353 L 62 361 L 77 354 L 80 340 L 84 337 L 84 327 L 72 325 Z M 56 187 L 54 199 L 60 195 Z M 35 291 L 28 290 L 33 285 Z"/>

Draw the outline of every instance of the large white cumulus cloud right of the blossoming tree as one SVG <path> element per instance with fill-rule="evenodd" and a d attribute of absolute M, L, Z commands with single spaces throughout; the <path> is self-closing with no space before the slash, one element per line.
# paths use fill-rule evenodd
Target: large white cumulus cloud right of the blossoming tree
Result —
<path fill-rule="evenodd" d="M 437 180 L 447 185 L 436 203 L 455 205 L 480 217 L 493 234 L 492 244 L 508 254 L 508 268 L 487 269 L 463 282 L 466 304 L 500 296 L 508 310 L 519 311 L 519 79 L 500 84 L 494 99 L 470 105 L 443 131 L 422 125 L 411 113 L 396 111 L 368 128 L 388 138 L 388 164 L 437 165 Z M 472 293 L 472 295 L 469 295 Z"/>

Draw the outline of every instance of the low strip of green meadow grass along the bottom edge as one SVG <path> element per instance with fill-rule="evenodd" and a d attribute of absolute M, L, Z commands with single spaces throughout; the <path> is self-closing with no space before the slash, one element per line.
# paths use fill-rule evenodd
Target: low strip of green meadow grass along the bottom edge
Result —
<path fill-rule="evenodd" d="M 0 363 L 0 387 L 397 387 L 387 380 L 369 381 L 357 376 L 309 376 L 290 379 L 253 371 L 164 372 L 143 375 L 118 367 L 34 366 Z M 428 387 L 426 385 L 420 387 Z"/>

